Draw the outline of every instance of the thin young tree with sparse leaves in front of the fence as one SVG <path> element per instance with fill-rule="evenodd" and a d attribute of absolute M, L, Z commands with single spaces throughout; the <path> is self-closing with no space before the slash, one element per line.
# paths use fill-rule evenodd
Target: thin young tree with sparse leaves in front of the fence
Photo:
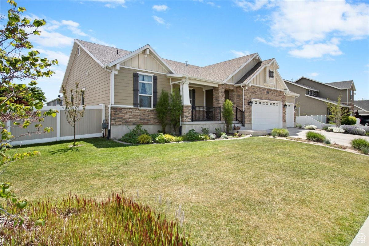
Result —
<path fill-rule="evenodd" d="M 67 90 L 62 85 L 63 90 L 63 106 L 65 110 L 65 117 L 69 125 L 73 127 L 74 141 L 73 146 L 76 146 L 76 122 L 83 118 L 85 115 L 86 105 L 81 105 L 82 96 L 84 96 L 83 90 L 78 90 L 78 83 L 76 82 L 75 91 L 70 89 L 69 97 Z M 81 107 L 80 107 L 81 106 Z"/>

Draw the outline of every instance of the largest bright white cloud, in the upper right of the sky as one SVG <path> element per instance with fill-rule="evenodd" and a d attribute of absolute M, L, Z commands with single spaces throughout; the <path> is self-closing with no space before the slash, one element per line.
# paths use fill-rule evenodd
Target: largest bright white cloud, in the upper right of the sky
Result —
<path fill-rule="evenodd" d="M 255 40 L 288 48 L 299 58 L 341 55 L 340 42 L 369 36 L 369 4 L 355 1 L 235 1 L 244 11 L 272 8 L 268 37 Z M 261 20 L 258 18 L 258 20 Z M 309 54 L 309 52 L 312 52 Z M 327 58 L 328 57 L 328 58 Z"/>

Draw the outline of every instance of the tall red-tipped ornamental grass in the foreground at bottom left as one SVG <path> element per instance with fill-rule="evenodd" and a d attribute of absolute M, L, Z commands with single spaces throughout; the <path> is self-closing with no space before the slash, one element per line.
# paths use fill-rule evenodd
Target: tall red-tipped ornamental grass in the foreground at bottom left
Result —
<path fill-rule="evenodd" d="M 10 211 L 17 214 L 15 207 Z M 20 216 L 24 227 L 5 220 L 0 238 L 9 245 L 191 245 L 179 224 L 167 221 L 132 197 L 112 194 L 96 201 L 69 195 L 61 202 L 32 202 Z M 45 225 L 34 229 L 44 218 Z M 32 229 L 31 229 L 32 228 Z"/>

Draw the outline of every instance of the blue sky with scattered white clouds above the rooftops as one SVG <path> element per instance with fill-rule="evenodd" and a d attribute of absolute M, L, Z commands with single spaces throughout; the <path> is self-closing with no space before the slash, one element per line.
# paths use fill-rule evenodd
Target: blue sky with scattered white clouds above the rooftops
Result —
<path fill-rule="evenodd" d="M 44 18 L 32 44 L 58 59 L 39 80 L 56 98 L 73 39 L 134 51 L 150 44 L 166 59 L 206 66 L 258 52 L 284 79 L 354 80 L 369 99 L 369 1 L 17 1 Z M 9 5 L 0 0 L 0 13 Z"/>

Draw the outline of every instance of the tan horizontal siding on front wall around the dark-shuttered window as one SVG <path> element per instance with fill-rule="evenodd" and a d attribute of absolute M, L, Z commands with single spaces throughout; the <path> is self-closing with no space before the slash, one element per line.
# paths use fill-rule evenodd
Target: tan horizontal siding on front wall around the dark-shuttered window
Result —
<path fill-rule="evenodd" d="M 133 73 L 137 69 L 121 67 L 118 73 L 114 75 L 114 104 L 133 106 Z M 158 76 L 158 99 L 161 91 L 164 89 L 170 93 L 170 79 L 165 74 L 155 72 L 151 73 Z"/>

